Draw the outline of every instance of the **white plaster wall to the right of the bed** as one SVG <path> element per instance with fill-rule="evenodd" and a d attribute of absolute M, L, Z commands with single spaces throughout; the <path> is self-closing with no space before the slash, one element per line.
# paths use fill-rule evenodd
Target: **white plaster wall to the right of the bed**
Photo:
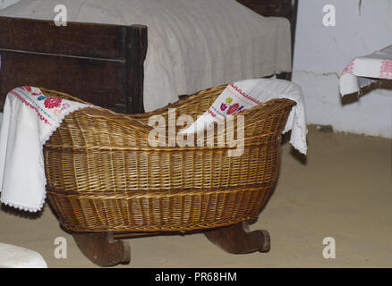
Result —
<path fill-rule="evenodd" d="M 325 4 L 336 7 L 336 27 L 322 24 Z M 392 138 L 391 90 L 350 105 L 341 104 L 338 91 L 351 59 L 392 45 L 392 0 L 299 0 L 295 41 L 293 80 L 303 88 L 308 123 Z"/>

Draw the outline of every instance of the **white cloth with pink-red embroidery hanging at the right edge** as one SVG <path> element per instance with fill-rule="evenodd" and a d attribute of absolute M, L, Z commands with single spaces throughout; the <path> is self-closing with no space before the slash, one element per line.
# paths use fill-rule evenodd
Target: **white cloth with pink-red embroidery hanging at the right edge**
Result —
<path fill-rule="evenodd" d="M 371 79 L 392 80 L 392 45 L 371 55 L 354 58 L 340 76 L 340 94 L 359 92 Z"/>

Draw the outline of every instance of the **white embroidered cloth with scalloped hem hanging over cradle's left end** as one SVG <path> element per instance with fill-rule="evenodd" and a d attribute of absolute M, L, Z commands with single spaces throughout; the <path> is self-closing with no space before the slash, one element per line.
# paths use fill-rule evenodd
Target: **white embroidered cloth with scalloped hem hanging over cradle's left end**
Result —
<path fill-rule="evenodd" d="M 1 201 L 37 212 L 46 198 L 42 148 L 66 114 L 91 105 L 45 97 L 39 88 L 21 87 L 5 99 L 0 125 Z"/>

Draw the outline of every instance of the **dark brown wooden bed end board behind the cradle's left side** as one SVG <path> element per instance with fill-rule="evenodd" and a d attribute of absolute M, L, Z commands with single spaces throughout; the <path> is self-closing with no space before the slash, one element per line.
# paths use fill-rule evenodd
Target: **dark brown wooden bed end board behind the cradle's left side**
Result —
<path fill-rule="evenodd" d="M 61 90 L 121 113 L 143 112 L 147 27 L 0 17 L 0 111 L 21 85 Z"/>

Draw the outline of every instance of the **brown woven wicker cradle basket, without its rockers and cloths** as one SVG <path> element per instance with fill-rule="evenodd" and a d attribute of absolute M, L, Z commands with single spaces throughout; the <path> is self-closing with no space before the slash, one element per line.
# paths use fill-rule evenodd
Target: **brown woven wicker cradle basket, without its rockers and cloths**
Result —
<path fill-rule="evenodd" d="M 281 133 L 294 101 L 275 99 L 241 113 L 243 156 L 228 156 L 233 147 L 226 145 L 149 146 L 150 116 L 167 119 L 171 107 L 177 117 L 196 119 L 225 87 L 146 114 L 115 114 L 97 107 L 67 115 L 44 147 L 47 198 L 64 228 L 193 231 L 256 218 L 277 181 Z M 42 91 L 48 97 L 81 101 Z"/>

